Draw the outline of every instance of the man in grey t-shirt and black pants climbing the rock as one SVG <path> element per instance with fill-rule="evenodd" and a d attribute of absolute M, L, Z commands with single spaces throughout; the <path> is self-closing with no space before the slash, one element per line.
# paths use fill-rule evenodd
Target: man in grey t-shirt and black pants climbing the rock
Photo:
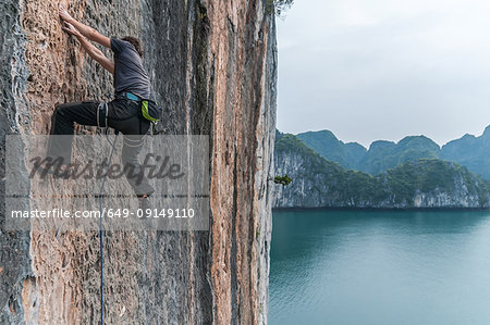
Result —
<path fill-rule="evenodd" d="M 139 101 L 150 96 L 150 83 L 143 67 L 143 50 L 137 38 L 108 38 L 96 29 L 74 20 L 66 10 L 59 5 L 62 29 L 75 36 L 87 54 L 114 76 L 115 99 L 107 104 L 97 101 L 74 102 L 58 105 L 52 115 L 51 135 L 74 134 L 74 123 L 81 125 L 111 127 L 124 135 L 122 162 L 126 179 L 140 199 L 140 204 L 147 205 L 154 188 L 146 177 L 137 177 L 144 173 L 138 161 L 144 135 L 150 127 L 150 121 L 143 117 Z M 90 41 L 110 48 L 114 61 L 108 59 Z M 51 137 L 48 146 L 48 157 L 62 158 L 61 173 L 70 172 L 72 137 Z M 51 170 L 51 172 L 53 172 Z M 57 171 L 58 173 L 59 171 Z M 142 182 L 143 179 L 143 182 Z"/>

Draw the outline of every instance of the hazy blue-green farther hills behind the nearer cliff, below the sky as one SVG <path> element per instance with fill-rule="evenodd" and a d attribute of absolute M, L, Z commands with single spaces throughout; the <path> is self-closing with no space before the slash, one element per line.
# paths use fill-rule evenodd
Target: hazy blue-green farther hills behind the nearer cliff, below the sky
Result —
<path fill-rule="evenodd" d="M 441 148 L 425 136 L 405 137 L 399 142 L 373 141 L 369 150 L 357 142 L 344 143 L 330 130 L 306 132 L 296 136 L 327 160 L 347 170 L 371 175 L 419 159 L 442 159 L 464 165 L 485 179 L 490 179 L 490 126 L 480 137 L 465 135 Z"/>

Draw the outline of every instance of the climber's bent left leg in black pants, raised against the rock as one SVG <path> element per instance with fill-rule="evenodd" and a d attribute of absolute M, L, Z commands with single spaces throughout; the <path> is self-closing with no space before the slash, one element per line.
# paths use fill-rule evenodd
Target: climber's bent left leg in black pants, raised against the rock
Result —
<path fill-rule="evenodd" d="M 51 117 L 48 153 L 52 160 L 61 159 L 62 165 L 71 162 L 74 123 L 97 125 L 97 101 L 74 102 L 58 105 Z M 60 137 L 62 136 L 62 137 Z"/>

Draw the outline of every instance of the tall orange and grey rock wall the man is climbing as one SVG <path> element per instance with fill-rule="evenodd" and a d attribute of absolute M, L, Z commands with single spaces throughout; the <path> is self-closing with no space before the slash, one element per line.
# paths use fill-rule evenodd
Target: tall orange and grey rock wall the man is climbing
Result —
<path fill-rule="evenodd" d="M 5 134 L 47 134 L 56 104 L 113 92 L 60 29 L 58 2 L 0 3 L 2 164 Z M 166 133 L 210 136 L 210 229 L 106 234 L 107 324 L 267 323 L 277 48 L 265 3 L 64 3 L 102 34 L 142 38 Z M 2 229 L 0 323 L 100 322 L 98 241 Z"/>

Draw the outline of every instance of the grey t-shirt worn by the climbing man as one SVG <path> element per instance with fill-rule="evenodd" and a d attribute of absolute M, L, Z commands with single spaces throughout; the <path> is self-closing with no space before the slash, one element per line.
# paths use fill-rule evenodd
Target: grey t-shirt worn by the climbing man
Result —
<path fill-rule="evenodd" d="M 149 78 L 143 68 L 142 58 L 133 45 L 122 39 L 111 38 L 111 50 L 114 52 L 115 92 L 128 91 L 149 98 Z"/>

